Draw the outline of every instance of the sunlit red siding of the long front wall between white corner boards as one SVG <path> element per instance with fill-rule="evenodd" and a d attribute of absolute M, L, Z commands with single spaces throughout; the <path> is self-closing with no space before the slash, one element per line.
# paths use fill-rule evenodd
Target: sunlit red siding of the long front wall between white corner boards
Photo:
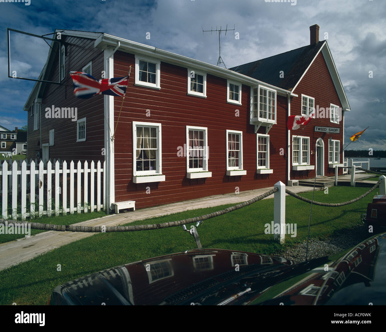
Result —
<path fill-rule="evenodd" d="M 127 74 L 129 66 L 134 69 L 134 55 L 114 54 L 114 76 Z M 194 69 L 194 68 L 193 68 Z M 134 70 L 132 71 L 132 73 Z M 279 155 L 280 148 L 286 151 L 286 98 L 278 97 L 277 119 L 269 132 L 271 141 L 270 167 L 273 174 L 256 174 L 256 134 L 249 124 L 250 88 L 242 86 L 242 105 L 229 104 L 227 80 L 207 75 L 207 98 L 187 95 L 187 69 L 161 62 L 161 90 L 134 85 L 130 76 L 127 94 L 115 134 L 115 201 L 134 200 L 136 207 L 154 206 L 186 199 L 246 191 L 273 186 L 285 181 L 286 159 Z M 121 100 L 115 98 L 115 123 L 119 115 Z M 150 109 L 150 117 L 146 110 Z M 239 109 L 239 117 L 235 110 Z M 147 184 L 132 182 L 132 121 L 161 123 L 162 173 L 166 180 Z M 186 143 L 186 125 L 208 128 L 208 170 L 212 177 L 190 180 L 186 178 L 186 157 L 178 157 L 178 146 Z M 226 130 L 243 132 L 243 163 L 247 175 L 228 178 L 226 173 Z M 259 132 L 265 133 L 265 128 Z"/>

